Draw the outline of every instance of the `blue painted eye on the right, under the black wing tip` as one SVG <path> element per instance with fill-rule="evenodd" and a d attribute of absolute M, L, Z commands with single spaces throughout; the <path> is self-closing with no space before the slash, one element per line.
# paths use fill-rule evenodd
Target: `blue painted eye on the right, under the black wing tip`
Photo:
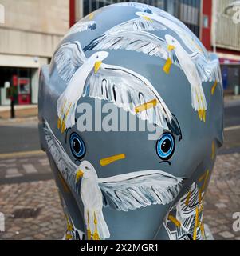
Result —
<path fill-rule="evenodd" d="M 163 160 L 167 160 L 171 158 L 172 154 L 175 150 L 175 138 L 171 134 L 163 134 L 161 138 L 159 138 L 156 151 L 159 155 L 159 158 Z"/>

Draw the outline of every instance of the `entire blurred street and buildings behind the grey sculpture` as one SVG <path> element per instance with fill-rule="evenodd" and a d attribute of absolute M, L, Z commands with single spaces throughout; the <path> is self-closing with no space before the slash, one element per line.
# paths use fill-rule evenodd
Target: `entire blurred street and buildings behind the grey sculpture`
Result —
<path fill-rule="evenodd" d="M 65 233 L 57 187 L 38 140 L 38 74 L 69 26 L 113 2 L 120 1 L 0 0 L 6 12 L 0 22 L 0 212 L 6 221 L 0 239 L 61 239 Z M 240 24 L 232 20 L 234 1 L 138 2 L 175 15 L 218 54 L 225 142 L 207 190 L 205 223 L 215 239 L 240 240 L 233 230 L 233 214 L 240 212 Z"/>

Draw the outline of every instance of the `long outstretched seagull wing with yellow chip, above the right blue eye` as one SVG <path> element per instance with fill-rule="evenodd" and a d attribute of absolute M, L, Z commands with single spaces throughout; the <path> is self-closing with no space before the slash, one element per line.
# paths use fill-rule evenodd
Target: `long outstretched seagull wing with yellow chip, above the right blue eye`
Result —
<path fill-rule="evenodd" d="M 89 75 L 83 96 L 113 102 L 142 120 L 169 128 L 172 115 L 159 93 L 148 79 L 121 66 L 102 64 L 100 70 Z M 150 103 L 152 105 L 150 106 Z M 149 105 L 148 105 L 149 104 Z M 136 107 L 149 106 L 138 111 Z"/>

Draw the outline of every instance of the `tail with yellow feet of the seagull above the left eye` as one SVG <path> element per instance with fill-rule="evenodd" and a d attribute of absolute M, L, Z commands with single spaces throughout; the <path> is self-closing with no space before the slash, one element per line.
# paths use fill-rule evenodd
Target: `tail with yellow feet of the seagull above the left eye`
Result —
<path fill-rule="evenodd" d="M 63 133 L 75 124 L 76 104 L 65 97 L 65 92 L 57 99 L 57 128 Z"/>

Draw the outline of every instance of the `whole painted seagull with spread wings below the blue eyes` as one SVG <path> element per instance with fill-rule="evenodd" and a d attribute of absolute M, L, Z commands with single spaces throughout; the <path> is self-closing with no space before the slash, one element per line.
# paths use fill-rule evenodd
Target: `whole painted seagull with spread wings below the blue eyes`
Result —
<path fill-rule="evenodd" d="M 161 170 L 140 170 L 98 178 L 89 161 L 83 161 L 77 166 L 53 134 L 48 122 L 44 120 L 43 125 L 53 161 L 69 186 L 81 195 L 89 239 L 110 237 L 103 206 L 128 211 L 156 204 L 165 205 L 175 200 L 183 186 L 183 178 L 176 178 Z"/>

